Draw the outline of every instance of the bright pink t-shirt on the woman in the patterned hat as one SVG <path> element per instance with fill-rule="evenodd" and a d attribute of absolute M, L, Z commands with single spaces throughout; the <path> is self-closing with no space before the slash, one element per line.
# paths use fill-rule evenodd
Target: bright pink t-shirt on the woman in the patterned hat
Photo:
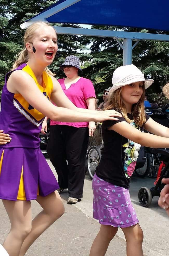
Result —
<path fill-rule="evenodd" d="M 86 100 L 90 97 L 96 98 L 94 86 L 89 79 L 81 77 L 75 84 L 71 84 L 70 87 L 66 90 L 64 79 L 58 79 L 62 90 L 66 94 L 66 96 L 73 102 L 73 104 L 77 108 L 85 108 L 87 109 Z M 65 123 L 65 122 L 58 122 L 54 120 L 50 120 L 50 125 L 61 124 L 61 125 L 68 125 L 74 127 L 87 127 L 89 122 L 78 122 L 78 123 Z"/>

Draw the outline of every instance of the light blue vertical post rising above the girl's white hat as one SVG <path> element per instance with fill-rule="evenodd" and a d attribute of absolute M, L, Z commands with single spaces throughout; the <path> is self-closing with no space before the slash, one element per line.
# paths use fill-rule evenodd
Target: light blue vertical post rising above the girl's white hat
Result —
<path fill-rule="evenodd" d="M 132 39 L 123 40 L 123 65 L 132 64 Z"/>

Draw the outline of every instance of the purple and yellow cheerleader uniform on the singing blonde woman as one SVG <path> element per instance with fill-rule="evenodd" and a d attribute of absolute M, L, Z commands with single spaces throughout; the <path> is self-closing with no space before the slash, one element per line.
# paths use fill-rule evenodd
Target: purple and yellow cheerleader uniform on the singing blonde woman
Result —
<path fill-rule="evenodd" d="M 43 95 L 50 99 L 53 83 L 45 71 L 42 73 L 42 87 L 27 64 L 15 70 L 27 72 Z M 0 198 L 28 201 L 36 199 L 37 195 L 47 196 L 59 185 L 39 148 L 44 115 L 20 93 L 11 93 L 6 88 L 6 82 L 15 70 L 6 74 L 1 98 L 0 128 L 12 140 L 0 146 Z"/>

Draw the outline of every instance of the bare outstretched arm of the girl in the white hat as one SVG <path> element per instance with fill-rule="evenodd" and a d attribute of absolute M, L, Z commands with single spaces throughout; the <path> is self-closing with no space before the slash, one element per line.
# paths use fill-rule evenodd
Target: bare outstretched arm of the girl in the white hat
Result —
<path fill-rule="evenodd" d="M 142 133 L 138 129 L 132 127 L 127 122 L 119 122 L 109 127 L 108 130 L 114 130 L 125 138 L 134 141 L 142 146 L 151 148 L 169 147 L 169 138 L 157 136 L 149 133 Z"/>

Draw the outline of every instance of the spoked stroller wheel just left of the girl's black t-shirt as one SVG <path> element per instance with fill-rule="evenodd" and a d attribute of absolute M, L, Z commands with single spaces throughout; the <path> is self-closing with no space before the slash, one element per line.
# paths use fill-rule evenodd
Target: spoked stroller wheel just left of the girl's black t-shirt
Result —
<path fill-rule="evenodd" d="M 87 153 L 87 170 L 90 179 L 93 179 L 96 167 L 99 165 L 101 159 L 100 147 L 92 146 Z"/>

